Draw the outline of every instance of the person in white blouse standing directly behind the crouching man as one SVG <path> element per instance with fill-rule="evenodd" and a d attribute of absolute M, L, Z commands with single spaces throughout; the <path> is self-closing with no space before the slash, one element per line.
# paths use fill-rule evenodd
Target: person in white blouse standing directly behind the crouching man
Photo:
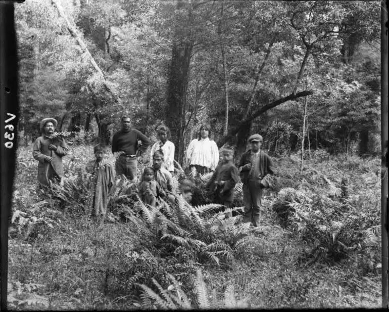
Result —
<path fill-rule="evenodd" d="M 161 150 L 164 154 L 164 162 L 162 167 L 169 170 L 171 174 L 174 173 L 174 143 L 169 141 L 170 129 L 165 125 L 160 125 L 157 129 L 159 141 L 157 141 L 151 148 L 150 161 L 153 163 L 153 155 L 155 151 Z"/>

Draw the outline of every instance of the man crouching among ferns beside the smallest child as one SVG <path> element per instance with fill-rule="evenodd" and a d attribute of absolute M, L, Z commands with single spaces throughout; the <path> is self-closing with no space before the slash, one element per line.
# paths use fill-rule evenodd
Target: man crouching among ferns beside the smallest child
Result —
<path fill-rule="evenodd" d="M 164 192 L 164 199 L 167 199 L 174 205 L 176 192 L 173 187 L 173 177 L 167 169 L 162 168 L 163 161 L 163 152 L 161 150 L 155 151 L 153 155 L 154 180 L 161 186 L 161 189 Z"/>

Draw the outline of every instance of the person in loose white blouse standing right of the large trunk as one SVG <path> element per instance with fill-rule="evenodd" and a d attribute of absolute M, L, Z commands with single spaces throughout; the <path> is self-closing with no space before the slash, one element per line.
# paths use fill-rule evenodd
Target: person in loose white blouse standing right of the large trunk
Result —
<path fill-rule="evenodd" d="M 199 138 L 192 140 L 186 151 L 186 163 L 189 168 L 194 166 L 201 174 L 215 171 L 219 162 L 219 149 L 215 141 L 209 139 L 210 134 L 211 126 L 207 123 L 202 124 Z"/>

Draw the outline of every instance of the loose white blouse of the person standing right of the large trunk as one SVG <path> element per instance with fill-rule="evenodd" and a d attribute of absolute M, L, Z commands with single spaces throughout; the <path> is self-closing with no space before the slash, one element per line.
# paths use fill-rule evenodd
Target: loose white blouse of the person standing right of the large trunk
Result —
<path fill-rule="evenodd" d="M 206 139 L 194 139 L 189 143 L 186 151 L 188 165 L 200 165 L 215 171 L 219 162 L 219 149 L 216 142 Z"/>

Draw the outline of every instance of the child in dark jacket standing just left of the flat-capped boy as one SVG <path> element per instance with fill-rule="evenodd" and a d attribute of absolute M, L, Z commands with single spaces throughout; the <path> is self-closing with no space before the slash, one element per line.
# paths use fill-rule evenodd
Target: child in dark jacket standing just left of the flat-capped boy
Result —
<path fill-rule="evenodd" d="M 238 169 L 232 162 L 233 150 L 225 147 L 222 150 L 221 162 L 217 165 L 207 187 L 215 196 L 215 201 L 219 204 L 231 208 L 234 199 L 234 189 L 239 181 Z M 228 213 L 227 216 L 231 216 Z"/>

